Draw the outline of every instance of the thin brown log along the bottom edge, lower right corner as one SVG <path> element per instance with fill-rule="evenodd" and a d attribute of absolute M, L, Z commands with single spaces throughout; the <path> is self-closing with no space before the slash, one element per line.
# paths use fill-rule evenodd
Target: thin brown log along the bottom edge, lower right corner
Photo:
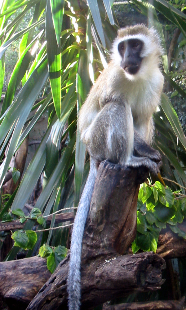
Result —
<path fill-rule="evenodd" d="M 123 303 L 119 305 L 109 306 L 104 304 L 103 310 L 184 310 L 185 298 L 180 300 L 158 300 L 140 303 Z"/>

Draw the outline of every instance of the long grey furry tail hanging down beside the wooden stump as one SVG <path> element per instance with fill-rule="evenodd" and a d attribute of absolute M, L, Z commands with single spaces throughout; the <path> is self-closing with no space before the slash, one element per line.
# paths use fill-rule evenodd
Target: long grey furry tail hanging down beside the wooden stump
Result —
<path fill-rule="evenodd" d="M 91 160 L 90 171 L 85 187 L 79 201 L 78 210 L 75 216 L 70 246 L 69 276 L 67 290 L 69 293 L 69 310 L 79 310 L 81 299 L 81 252 L 82 239 L 86 218 L 89 212 L 91 197 L 94 190 L 97 169 L 95 162 Z"/>

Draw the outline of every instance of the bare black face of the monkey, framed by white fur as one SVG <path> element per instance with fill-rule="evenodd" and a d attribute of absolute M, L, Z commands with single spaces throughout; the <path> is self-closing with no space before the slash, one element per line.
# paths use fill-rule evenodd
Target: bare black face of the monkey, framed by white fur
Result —
<path fill-rule="evenodd" d="M 121 67 L 129 74 L 139 71 L 142 57 L 141 51 L 144 43 L 139 39 L 129 39 L 118 44 L 118 51 L 122 57 Z"/>

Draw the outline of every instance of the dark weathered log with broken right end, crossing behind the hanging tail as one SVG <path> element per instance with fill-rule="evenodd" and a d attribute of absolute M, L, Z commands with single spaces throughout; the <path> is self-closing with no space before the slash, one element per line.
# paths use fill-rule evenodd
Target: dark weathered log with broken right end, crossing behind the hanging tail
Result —
<path fill-rule="evenodd" d="M 27 310 L 67 310 L 66 280 L 69 257 L 50 277 Z M 112 257 L 101 262 L 89 262 L 82 272 L 82 310 L 104 303 L 108 299 L 126 296 L 136 291 L 160 289 L 165 262 L 158 255 L 147 252 Z"/>

